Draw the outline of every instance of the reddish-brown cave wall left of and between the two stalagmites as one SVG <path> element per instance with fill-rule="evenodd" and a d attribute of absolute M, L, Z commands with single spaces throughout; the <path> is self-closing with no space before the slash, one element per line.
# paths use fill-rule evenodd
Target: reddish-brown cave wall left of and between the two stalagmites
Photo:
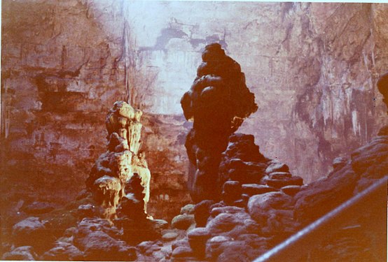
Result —
<path fill-rule="evenodd" d="M 20 200 L 67 203 L 85 188 L 106 150 L 106 114 L 137 84 L 125 2 L 2 1 L 2 210 Z M 144 112 L 155 217 L 190 201 L 183 120 Z"/>

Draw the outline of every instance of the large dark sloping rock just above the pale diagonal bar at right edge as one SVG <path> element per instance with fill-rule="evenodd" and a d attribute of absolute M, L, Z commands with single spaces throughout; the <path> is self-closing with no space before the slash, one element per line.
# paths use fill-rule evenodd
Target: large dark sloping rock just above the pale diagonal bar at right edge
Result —
<path fill-rule="evenodd" d="M 384 177 L 388 168 L 388 138 L 377 137 L 354 150 L 342 168 L 327 177 L 308 184 L 294 197 L 295 217 L 303 225 L 310 224 Z M 368 181 L 369 180 L 369 181 Z"/>

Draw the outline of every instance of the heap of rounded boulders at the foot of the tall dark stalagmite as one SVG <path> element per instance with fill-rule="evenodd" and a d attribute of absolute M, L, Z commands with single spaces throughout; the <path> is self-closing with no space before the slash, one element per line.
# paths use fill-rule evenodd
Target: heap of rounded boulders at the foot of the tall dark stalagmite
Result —
<path fill-rule="evenodd" d="M 301 177 L 264 157 L 251 135 L 230 136 L 221 156 L 221 201 L 195 205 L 197 227 L 172 245 L 175 261 L 251 261 L 300 228 L 293 196 Z"/>

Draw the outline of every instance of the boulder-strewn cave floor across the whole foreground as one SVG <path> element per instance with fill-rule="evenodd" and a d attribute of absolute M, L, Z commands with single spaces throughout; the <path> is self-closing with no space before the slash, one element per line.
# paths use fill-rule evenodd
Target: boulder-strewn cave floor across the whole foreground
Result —
<path fill-rule="evenodd" d="M 303 185 L 288 166 L 263 157 L 251 136 L 235 134 L 221 163 L 230 177 L 222 201 L 185 205 L 171 223 L 149 220 L 153 229 L 141 238 L 118 221 L 95 216 L 87 191 L 61 209 L 20 203 L 2 217 L 2 259 L 251 261 L 387 175 L 388 134 L 380 135 L 349 158 L 335 159 L 327 177 Z M 303 258 L 381 261 L 387 240 L 382 211 L 383 217 L 370 212 L 354 218 Z"/>

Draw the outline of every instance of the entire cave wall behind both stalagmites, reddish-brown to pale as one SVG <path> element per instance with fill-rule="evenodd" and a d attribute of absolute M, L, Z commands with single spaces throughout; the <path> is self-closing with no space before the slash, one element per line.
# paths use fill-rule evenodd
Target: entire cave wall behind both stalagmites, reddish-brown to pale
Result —
<path fill-rule="evenodd" d="M 107 110 L 127 99 L 145 112 L 150 213 L 172 217 L 189 201 L 179 100 L 214 41 L 256 94 L 240 131 L 315 180 L 387 124 L 375 88 L 387 17 L 377 3 L 2 1 L 1 189 L 76 196 L 105 150 Z"/>

